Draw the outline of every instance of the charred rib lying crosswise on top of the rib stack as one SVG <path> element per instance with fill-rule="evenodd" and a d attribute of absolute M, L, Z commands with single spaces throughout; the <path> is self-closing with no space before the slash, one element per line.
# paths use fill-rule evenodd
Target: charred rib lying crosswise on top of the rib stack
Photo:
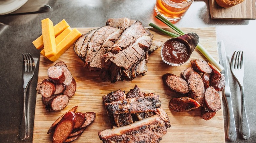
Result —
<path fill-rule="evenodd" d="M 106 103 L 105 107 L 107 112 L 111 114 L 156 111 L 156 109 L 161 106 L 159 97 L 159 95 L 154 95 L 147 97 L 124 99 L 122 101 Z"/>

